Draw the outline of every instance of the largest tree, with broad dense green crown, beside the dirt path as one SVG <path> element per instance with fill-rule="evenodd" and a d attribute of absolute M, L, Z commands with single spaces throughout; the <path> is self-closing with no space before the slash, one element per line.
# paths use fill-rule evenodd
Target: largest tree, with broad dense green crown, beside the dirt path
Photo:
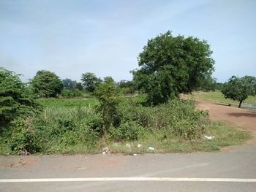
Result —
<path fill-rule="evenodd" d="M 178 35 L 170 31 L 148 40 L 138 56 L 140 69 L 134 81 L 148 93 L 151 104 L 159 104 L 178 93 L 189 93 L 214 71 L 214 59 L 206 41 Z"/>

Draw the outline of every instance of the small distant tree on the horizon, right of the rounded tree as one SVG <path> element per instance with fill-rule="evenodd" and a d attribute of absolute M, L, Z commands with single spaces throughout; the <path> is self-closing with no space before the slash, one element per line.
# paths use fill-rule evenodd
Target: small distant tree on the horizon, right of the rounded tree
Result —
<path fill-rule="evenodd" d="M 83 88 L 88 92 L 94 92 L 95 88 L 102 82 L 94 73 L 83 73 L 81 77 Z"/>

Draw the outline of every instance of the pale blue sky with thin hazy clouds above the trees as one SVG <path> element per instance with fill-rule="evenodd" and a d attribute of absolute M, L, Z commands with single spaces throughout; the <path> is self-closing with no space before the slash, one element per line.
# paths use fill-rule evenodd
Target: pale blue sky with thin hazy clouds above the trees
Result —
<path fill-rule="evenodd" d="M 148 39 L 205 39 L 214 77 L 256 76 L 255 0 L 0 0 L 0 66 L 33 78 L 81 74 L 131 80 Z"/>

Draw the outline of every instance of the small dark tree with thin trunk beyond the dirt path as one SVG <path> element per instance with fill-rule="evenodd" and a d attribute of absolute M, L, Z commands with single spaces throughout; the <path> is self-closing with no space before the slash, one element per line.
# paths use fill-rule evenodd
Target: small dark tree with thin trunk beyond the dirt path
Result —
<path fill-rule="evenodd" d="M 232 76 L 228 82 L 225 82 L 223 85 L 222 93 L 225 98 L 239 101 L 238 108 L 240 108 L 242 102 L 247 99 L 248 96 L 255 96 L 256 77 L 244 76 L 239 78 Z"/>

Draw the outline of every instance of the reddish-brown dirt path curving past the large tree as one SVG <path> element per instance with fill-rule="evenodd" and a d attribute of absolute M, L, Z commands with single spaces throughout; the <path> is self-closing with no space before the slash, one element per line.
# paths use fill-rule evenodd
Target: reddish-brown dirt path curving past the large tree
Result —
<path fill-rule="evenodd" d="M 200 110 L 208 110 L 212 120 L 222 120 L 233 126 L 251 131 L 256 137 L 256 113 L 236 107 L 196 100 Z"/>

